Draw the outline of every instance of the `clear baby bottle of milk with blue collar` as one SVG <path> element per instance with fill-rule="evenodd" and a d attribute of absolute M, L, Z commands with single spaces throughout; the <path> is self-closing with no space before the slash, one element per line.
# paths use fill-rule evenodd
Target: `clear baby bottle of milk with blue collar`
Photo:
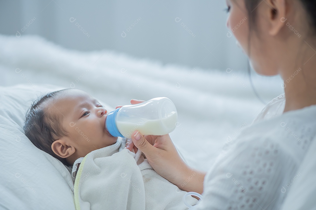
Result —
<path fill-rule="evenodd" d="M 131 138 L 138 130 L 142 135 L 165 135 L 173 131 L 178 120 L 177 109 L 166 97 L 125 105 L 106 116 L 106 129 L 112 136 Z"/>

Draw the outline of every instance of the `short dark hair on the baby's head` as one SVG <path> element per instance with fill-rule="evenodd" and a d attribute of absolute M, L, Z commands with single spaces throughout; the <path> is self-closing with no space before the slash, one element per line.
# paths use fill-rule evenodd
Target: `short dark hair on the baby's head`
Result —
<path fill-rule="evenodd" d="M 70 164 L 65 158 L 61 158 L 52 151 L 52 143 L 62 136 L 66 136 L 61 125 L 60 116 L 49 113 L 47 110 L 53 106 L 53 99 L 62 91 L 50 92 L 33 102 L 27 111 L 23 126 L 27 138 L 40 150 L 60 160 L 64 165 Z"/>

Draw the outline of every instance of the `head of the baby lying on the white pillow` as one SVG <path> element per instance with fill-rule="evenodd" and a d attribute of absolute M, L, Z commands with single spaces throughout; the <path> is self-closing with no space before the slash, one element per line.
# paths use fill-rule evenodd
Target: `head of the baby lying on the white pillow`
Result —
<path fill-rule="evenodd" d="M 55 91 L 33 103 L 26 114 L 24 132 L 36 147 L 68 166 L 117 141 L 105 129 L 106 113 L 84 91 Z"/>

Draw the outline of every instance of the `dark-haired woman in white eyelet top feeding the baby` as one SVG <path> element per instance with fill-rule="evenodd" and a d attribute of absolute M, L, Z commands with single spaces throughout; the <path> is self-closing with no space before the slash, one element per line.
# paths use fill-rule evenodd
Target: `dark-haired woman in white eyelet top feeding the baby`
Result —
<path fill-rule="evenodd" d="M 180 189 L 203 193 L 194 209 L 278 209 L 315 136 L 316 2 L 226 3 L 227 26 L 253 69 L 261 75 L 280 74 L 285 94 L 264 108 L 207 173 L 187 166 L 169 135 L 145 138 L 135 131 L 127 148 L 135 145 L 158 174 Z"/>

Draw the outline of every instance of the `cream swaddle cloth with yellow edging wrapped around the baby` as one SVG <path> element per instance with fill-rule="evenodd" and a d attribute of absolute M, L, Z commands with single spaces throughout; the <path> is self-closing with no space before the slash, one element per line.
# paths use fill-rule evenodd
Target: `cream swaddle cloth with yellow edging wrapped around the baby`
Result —
<path fill-rule="evenodd" d="M 182 201 L 186 192 L 157 174 L 141 151 L 124 149 L 125 141 L 119 137 L 115 144 L 76 160 L 76 209 L 187 209 Z M 195 205 L 197 199 L 189 196 L 187 201 Z"/>

